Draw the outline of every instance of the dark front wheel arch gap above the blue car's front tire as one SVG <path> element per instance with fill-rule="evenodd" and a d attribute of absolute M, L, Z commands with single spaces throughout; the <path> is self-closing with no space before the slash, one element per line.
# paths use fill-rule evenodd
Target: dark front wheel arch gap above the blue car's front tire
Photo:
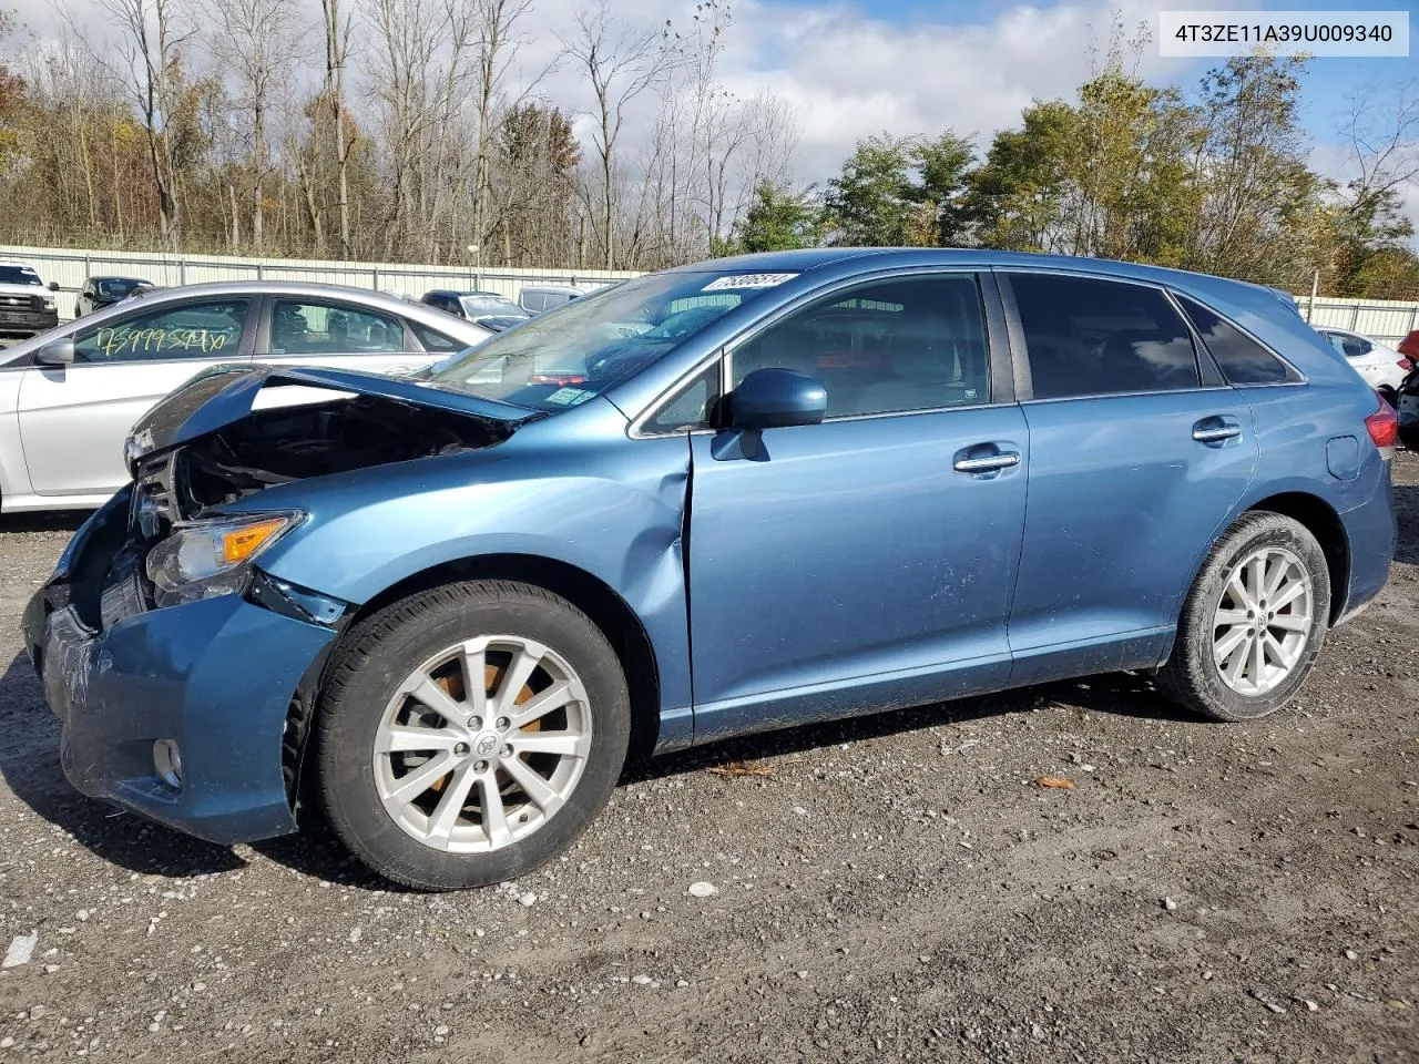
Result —
<path fill-rule="evenodd" d="M 614 648 L 630 692 L 631 735 L 626 760 L 636 763 L 650 756 L 660 732 L 660 670 L 650 634 L 630 604 L 604 580 L 568 562 L 538 555 L 478 555 L 440 562 L 412 573 L 366 600 L 348 619 L 341 637 L 325 654 L 316 674 L 308 677 L 302 684 L 304 692 L 292 698 L 288 709 L 284 755 L 288 760 L 287 777 L 292 799 L 305 775 L 311 722 L 325 687 L 325 668 L 335 660 L 349 633 L 360 620 L 390 603 L 463 580 L 514 580 L 542 587 L 566 599 L 590 617 Z"/>

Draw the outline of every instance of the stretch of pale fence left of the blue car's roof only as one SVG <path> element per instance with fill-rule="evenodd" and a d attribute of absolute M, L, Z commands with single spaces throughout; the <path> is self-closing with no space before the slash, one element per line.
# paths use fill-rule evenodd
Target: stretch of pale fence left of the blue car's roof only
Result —
<path fill-rule="evenodd" d="M 399 292 L 417 299 L 430 288 L 501 292 L 518 298 L 524 285 L 559 284 L 578 288 L 636 277 L 623 270 L 517 270 L 508 267 L 417 265 L 404 262 L 341 262 L 302 258 L 238 258 L 231 255 L 165 255 L 145 251 L 71 251 L 0 244 L 0 260 L 33 265 L 45 282 L 60 285 L 60 318 L 74 315 L 74 302 L 88 277 L 142 277 L 156 285 L 203 281 L 314 281 Z"/>

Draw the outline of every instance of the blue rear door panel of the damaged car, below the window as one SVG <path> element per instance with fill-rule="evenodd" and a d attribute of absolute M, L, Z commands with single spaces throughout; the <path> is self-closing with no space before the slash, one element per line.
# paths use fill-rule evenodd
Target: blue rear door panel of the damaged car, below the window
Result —
<path fill-rule="evenodd" d="M 1162 630 L 1156 645 L 1165 645 L 1195 566 L 1252 480 L 1250 407 L 1236 392 L 1218 389 L 1026 403 L 1025 417 L 1033 444 L 1030 505 L 1012 648 L 1030 658 L 1145 630 Z M 1240 434 L 1193 438 L 1229 426 Z M 1155 663 L 1105 667 L 1142 664 Z M 1070 671 L 1066 663 L 1022 663 L 1012 682 Z"/>

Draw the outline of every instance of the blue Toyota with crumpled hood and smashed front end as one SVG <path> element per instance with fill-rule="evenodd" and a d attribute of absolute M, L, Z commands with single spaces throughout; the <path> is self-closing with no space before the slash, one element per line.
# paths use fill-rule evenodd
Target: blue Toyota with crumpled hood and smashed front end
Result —
<path fill-rule="evenodd" d="M 1266 288 L 721 260 L 423 379 L 197 377 L 26 634 L 84 793 L 219 843 L 318 794 L 380 874 L 467 887 L 637 748 L 1112 670 L 1263 716 L 1385 582 L 1393 444 Z"/>

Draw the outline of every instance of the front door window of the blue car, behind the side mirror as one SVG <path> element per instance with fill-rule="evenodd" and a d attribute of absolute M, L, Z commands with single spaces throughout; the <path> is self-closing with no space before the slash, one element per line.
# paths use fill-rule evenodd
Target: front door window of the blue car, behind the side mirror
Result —
<path fill-rule="evenodd" d="M 826 297 L 734 352 L 734 383 L 783 367 L 827 389 L 829 417 L 990 401 L 973 274 L 904 277 Z"/>

